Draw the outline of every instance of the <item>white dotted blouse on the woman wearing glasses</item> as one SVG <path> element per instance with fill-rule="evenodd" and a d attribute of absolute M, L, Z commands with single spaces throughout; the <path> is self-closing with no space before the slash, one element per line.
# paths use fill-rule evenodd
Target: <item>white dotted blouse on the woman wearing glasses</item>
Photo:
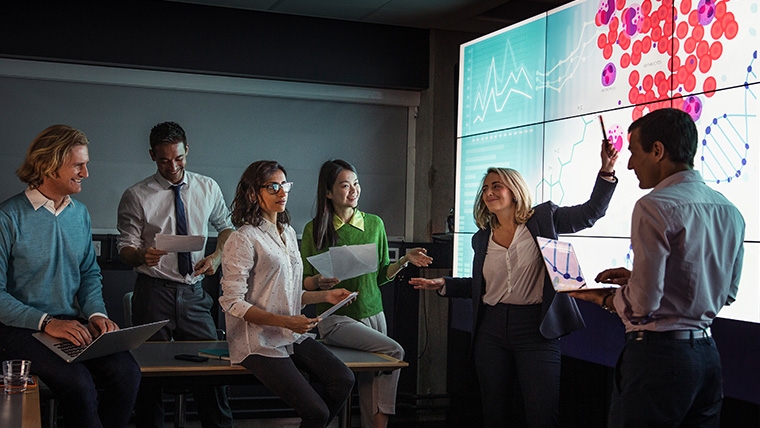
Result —
<path fill-rule="evenodd" d="M 303 264 L 295 230 L 288 225 L 278 234 L 277 226 L 266 220 L 257 227 L 244 225 L 224 245 L 222 272 L 219 305 L 226 314 L 232 362 L 251 354 L 287 357 L 291 345 L 305 336 L 243 317 L 251 306 L 279 315 L 301 313 Z"/>

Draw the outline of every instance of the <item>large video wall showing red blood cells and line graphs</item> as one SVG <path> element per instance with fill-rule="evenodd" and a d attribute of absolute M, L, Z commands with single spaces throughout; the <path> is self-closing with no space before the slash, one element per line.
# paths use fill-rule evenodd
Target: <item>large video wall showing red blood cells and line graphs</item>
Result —
<path fill-rule="evenodd" d="M 585 202 L 604 118 L 620 150 L 607 215 L 561 239 L 586 277 L 630 268 L 631 211 L 648 190 L 628 171 L 627 128 L 663 107 L 697 124 L 705 181 L 747 223 L 737 302 L 720 316 L 760 322 L 760 0 L 578 0 L 462 45 L 454 275 L 469 276 L 474 198 L 485 171 L 520 171 L 534 203 Z"/>

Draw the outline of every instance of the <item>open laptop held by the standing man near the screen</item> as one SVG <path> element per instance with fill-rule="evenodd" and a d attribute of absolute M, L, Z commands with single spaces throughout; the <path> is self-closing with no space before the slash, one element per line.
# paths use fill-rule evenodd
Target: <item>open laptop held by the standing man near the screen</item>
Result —
<path fill-rule="evenodd" d="M 617 284 L 602 284 L 595 281 L 589 284 L 578 263 L 573 244 L 542 236 L 536 237 L 536 241 L 538 241 L 554 291 L 557 293 L 620 287 Z"/>

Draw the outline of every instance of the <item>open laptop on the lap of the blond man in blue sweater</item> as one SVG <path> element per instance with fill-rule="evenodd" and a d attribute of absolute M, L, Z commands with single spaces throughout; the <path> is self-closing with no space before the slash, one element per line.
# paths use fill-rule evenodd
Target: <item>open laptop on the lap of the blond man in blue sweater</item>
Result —
<path fill-rule="evenodd" d="M 169 320 L 156 321 L 103 333 L 85 346 L 76 346 L 68 340 L 58 339 L 41 331 L 33 333 L 32 336 L 67 363 L 73 363 L 135 349 L 168 322 Z"/>

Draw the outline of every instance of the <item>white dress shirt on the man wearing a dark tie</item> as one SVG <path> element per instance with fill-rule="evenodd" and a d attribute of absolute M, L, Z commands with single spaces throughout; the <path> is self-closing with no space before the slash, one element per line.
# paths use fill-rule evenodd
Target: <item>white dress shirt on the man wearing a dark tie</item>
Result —
<path fill-rule="evenodd" d="M 208 225 L 217 232 L 232 229 L 230 211 L 224 203 L 224 196 L 219 185 L 210 177 L 185 171 L 186 183 L 180 191 L 185 204 L 187 217 L 187 234 L 208 237 Z M 117 223 L 119 238 L 117 249 L 124 247 L 145 249 L 156 246 L 156 234 L 175 235 L 177 220 L 174 210 L 174 190 L 172 184 L 156 172 L 124 192 L 119 202 L 119 220 Z M 160 249 L 160 248 L 159 248 Z M 205 257 L 204 248 L 190 253 L 192 264 Z M 175 282 L 195 284 L 203 275 L 186 276 L 179 273 L 177 253 L 169 253 L 158 262 L 157 266 L 145 264 L 135 271 L 153 278 L 168 279 Z"/>

